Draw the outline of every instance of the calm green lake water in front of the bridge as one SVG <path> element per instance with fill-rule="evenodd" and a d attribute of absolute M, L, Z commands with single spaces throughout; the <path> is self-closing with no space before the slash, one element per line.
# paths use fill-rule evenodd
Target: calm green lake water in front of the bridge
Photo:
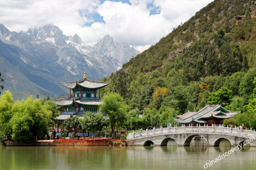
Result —
<path fill-rule="evenodd" d="M 35 146 L 0 147 L 1 170 L 81 170 L 81 169 L 154 169 L 200 170 L 209 160 L 230 150 L 207 147 L 204 141 L 191 146 Z M 235 151 L 207 169 L 255 170 L 256 147 Z"/>

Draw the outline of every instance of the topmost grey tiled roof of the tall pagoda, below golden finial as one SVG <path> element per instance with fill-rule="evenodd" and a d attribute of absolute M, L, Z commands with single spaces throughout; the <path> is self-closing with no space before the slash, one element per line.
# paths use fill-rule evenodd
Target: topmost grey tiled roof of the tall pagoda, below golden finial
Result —
<path fill-rule="evenodd" d="M 105 83 L 103 81 L 94 81 L 94 80 L 90 80 L 90 79 L 80 79 L 80 80 L 76 80 L 76 81 L 67 81 L 65 83 L 61 83 L 60 84 L 64 87 L 67 87 L 69 89 L 74 89 L 77 85 L 81 86 L 81 87 L 85 87 L 85 88 L 89 88 L 89 89 L 98 89 L 98 88 L 102 88 L 107 86 L 109 83 Z"/>

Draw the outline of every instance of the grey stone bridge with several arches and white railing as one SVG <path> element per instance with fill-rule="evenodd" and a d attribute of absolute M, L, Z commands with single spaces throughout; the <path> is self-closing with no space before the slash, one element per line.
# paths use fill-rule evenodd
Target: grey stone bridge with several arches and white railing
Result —
<path fill-rule="evenodd" d="M 256 146 L 255 130 L 238 128 L 182 126 L 172 128 L 153 128 L 128 134 L 127 145 L 166 146 L 169 140 L 175 140 L 178 146 L 189 146 L 195 136 L 205 139 L 208 146 L 219 146 L 222 140 L 229 140 L 232 146 L 247 144 Z"/>

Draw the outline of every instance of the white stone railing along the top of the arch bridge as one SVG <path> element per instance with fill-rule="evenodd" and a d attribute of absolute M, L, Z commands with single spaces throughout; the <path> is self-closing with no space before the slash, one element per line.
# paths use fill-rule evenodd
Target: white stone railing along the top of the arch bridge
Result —
<path fill-rule="evenodd" d="M 193 132 L 220 132 L 220 133 L 232 133 L 232 134 L 240 134 L 240 135 L 246 135 L 246 136 L 255 136 L 255 129 L 252 130 L 252 128 L 250 128 L 250 130 L 247 130 L 247 128 L 245 130 L 241 130 L 238 127 L 235 128 L 231 128 L 231 127 L 223 127 L 223 126 L 219 126 L 219 127 L 212 127 L 212 126 L 208 126 L 208 125 L 204 125 L 204 126 L 193 126 L 193 125 L 189 125 L 189 126 L 174 126 L 171 128 L 153 128 L 151 130 L 141 130 L 139 132 L 132 132 L 129 134 L 129 139 L 131 138 L 135 138 L 135 137 L 140 137 L 140 136 L 148 136 L 148 135 L 153 135 L 153 134 L 166 134 L 166 133 L 171 133 L 171 132 L 186 132 L 186 131 L 193 131 Z"/>

